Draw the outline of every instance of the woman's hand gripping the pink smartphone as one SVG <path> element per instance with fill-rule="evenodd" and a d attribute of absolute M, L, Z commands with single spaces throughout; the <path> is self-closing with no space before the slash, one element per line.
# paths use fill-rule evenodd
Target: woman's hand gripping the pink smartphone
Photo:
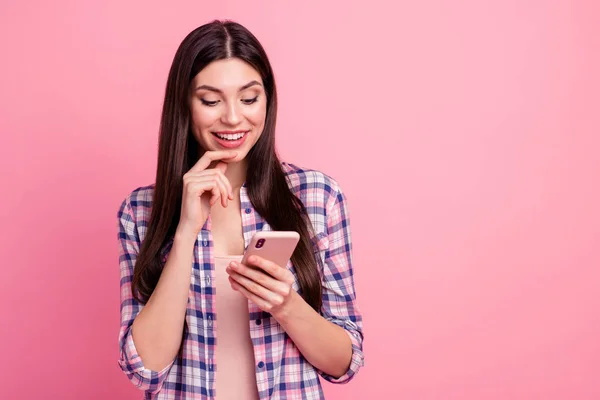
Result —
<path fill-rule="evenodd" d="M 259 256 L 249 257 L 248 264 L 232 262 L 227 267 L 233 290 L 242 293 L 275 319 L 287 315 L 297 294 L 292 288 L 294 275 L 287 268 Z"/>

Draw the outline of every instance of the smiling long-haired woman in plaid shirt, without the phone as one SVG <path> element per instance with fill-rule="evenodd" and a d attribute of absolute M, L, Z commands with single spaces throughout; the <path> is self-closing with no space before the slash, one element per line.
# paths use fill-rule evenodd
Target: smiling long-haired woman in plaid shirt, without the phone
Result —
<path fill-rule="evenodd" d="M 215 21 L 181 43 L 156 183 L 119 211 L 119 364 L 146 399 L 323 398 L 363 364 L 346 199 L 280 162 L 264 49 Z M 288 265 L 239 261 L 253 234 L 293 230 Z"/>

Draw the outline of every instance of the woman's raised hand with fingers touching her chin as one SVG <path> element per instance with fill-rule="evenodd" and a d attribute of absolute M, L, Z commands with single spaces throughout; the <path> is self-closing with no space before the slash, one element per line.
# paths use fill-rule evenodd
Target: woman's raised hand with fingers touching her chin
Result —
<path fill-rule="evenodd" d="M 183 176 L 181 216 L 177 230 L 198 235 L 210 214 L 210 208 L 220 199 L 227 207 L 233 200 L 233 189 L 225 177 L 227 163 L 237 155 L 235 151 L 207 151 Z M 216 162 L 214 168 L 209 166 Z"/>

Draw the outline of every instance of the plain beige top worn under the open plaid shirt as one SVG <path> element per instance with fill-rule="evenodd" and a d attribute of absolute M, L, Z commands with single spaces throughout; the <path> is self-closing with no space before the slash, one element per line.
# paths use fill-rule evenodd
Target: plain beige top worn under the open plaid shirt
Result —
<path fill-rule="evenodd" d="M 242 256 L 215 257 L 218 400 L 258 400 L 248 300 L 231 288 L 225 271 L 231 261 L 241 259 Z"/>

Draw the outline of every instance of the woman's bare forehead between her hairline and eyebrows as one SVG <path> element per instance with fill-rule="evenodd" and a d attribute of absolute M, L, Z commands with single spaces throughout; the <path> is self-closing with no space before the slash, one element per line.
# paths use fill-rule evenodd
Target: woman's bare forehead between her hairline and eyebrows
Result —
<path fill-rule="evenodd" d="M 238 90 L 250 81 L 256 80 L 262 84 L 257 70 L 239 58 L 213 61 L 194 77 L 195 86 L 210 85 L 221 89 Z"/>

